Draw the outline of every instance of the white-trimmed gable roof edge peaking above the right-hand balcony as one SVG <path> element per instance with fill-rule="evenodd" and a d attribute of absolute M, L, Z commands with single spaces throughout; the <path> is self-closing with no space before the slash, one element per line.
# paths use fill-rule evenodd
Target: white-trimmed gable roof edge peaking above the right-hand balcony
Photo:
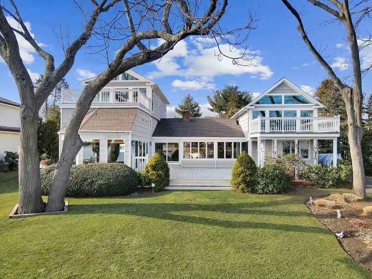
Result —
<path fill-rule="evenodd" d="M 275 88 L 280 86 L 281 84 L 285 84 L 290 89 L 294 90 L 296 94 L 304 96 L 306 99 L 308 99 L 311 104 L 316 108 L 323 108 L 324 105 L 317 101 L 314 97 L 312 97 L 310 94 L 306 93 L 304 90 L 302 90 L 300 87 L 289 81 L 287 78 L 283 77 L 279 81 L 277 81 L 274 85 L 272 85 L 269 89 L 267 89 L 262 94 L 259 94 L 256 98 L 254 98 L 248 105 L 246 105 L 244 108 L 242 108 L 240 111 L 238 111 L 236 114 L 234 114 L 231 118 L 237 118 L 239 115 L 241 115 L 245 110 L 248 108 L 254 108 L 255 104 L 265 97 L 266 95 L 270 94 Z M 310 105 L 311 105 L 310 104 Z"/>

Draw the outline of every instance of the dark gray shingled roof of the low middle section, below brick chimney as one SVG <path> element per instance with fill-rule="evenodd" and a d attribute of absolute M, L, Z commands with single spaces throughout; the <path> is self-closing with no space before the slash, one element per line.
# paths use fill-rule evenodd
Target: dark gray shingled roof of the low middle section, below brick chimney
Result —
<path fill-rule="evenodd" d="M 245 138 L 236 119 L 220 118 L 190 118 L 190 123 L 183 123 L 182 118 L 163 118 L 152 136 Z"/>

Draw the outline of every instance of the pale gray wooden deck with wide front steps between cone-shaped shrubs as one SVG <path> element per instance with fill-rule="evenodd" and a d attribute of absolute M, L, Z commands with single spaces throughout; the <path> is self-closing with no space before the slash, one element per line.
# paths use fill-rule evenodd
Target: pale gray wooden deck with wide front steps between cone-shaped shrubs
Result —
<path fill-rule="evenodd" d="M 182 168 L 170 169 L 170 183 L 166 190 L 233 190 L 231 169 Z"/>

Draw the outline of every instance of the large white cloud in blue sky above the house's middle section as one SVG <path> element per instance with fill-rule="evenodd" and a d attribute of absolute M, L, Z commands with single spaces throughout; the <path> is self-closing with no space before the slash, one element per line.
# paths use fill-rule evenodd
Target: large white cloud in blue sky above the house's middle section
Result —
<path fill-rule="evenodd" d="M 183 77 L 183 80 L 181 78 L 174 80 L 172 85 L 181 89 L 197 90 L 213 89 L 215 85 L 213 80 L 220 75 L 240 76 L 248 73 L 260 79 L 267 79 L 273 75 L 270 67 L 264 65 L 260 51 L 231 49 L 227 44 L 221 44 L 219 49 L 231 57 L 244 57 L 249 62 L 241 59 L 239 63 L 248 66 L 234 64 L 231 59 L 223 56 L 218 57 L 219 50 L 212 39 L 191 38 L 179 42 L 174 50 L 153 62 L 157 70 L 149 72 L 147 76 L 150 79 L 165 76 Z"/>

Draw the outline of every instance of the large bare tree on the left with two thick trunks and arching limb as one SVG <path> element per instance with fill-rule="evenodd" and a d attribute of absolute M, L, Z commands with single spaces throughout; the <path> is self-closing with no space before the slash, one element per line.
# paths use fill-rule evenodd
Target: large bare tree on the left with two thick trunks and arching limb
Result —
<path fill-rule="evenodd" d="M 63 208 L 72 161 L 82 146 L 78 135 L 79 126 L 94 97 L 105 84 L 126 70 L 161 58 L 188 36 L 208 35 L 217 38 L 222 35 L 223 39 L 234 38 L 227 36 L 229 32 L 222 31 L 218 24 L 226 11 L 228 0 L 102 0 L 100 3 L 96 0 L 78 3 L 76 0 L 74 3 L 82 12 L 91 12 L 85 15 L 87 21 L 84 30 L 68 47 L 65 47 L 61 36 L 60 43 L 65 58 L 56 67 L 54 57 L 43 50 L 29 33 L 14 1 L 10 0 L 10 3 L 13 12 L 0 6 L 0 55 L 14 77 L 21 101 L 19 213 L 59 211 Z M 90 6 L 87 8 L 83 4 Z M 18 28 L 9 25 L 5 14 L 18 23 Z M 241 30 L 249 31 L 252 21 L 249 18 L 248 20 L 247 26 L 229 34 L 234 35 L 234 32 Z M 26 39 L 45 60 L 43 79 L 35 92 L 31 77 L 20 57 L 14 33 Z M 236 43 L 242 42 L 237 39 Z M 118 44 L 120 45 L 116 47 Z M 84 45 L 89 46 L 91 55 L 103 55 L 108 67 L 84 88 L 76 103 L 66 126 L 62 153 L 45 208 L 40 191 L 37 152 L 38 111 L 71 69 L 78 50 Z M 115 52 L 112 52 L 113 49 Z M 111 53 L 115 53 L 112 59 Z"/>

